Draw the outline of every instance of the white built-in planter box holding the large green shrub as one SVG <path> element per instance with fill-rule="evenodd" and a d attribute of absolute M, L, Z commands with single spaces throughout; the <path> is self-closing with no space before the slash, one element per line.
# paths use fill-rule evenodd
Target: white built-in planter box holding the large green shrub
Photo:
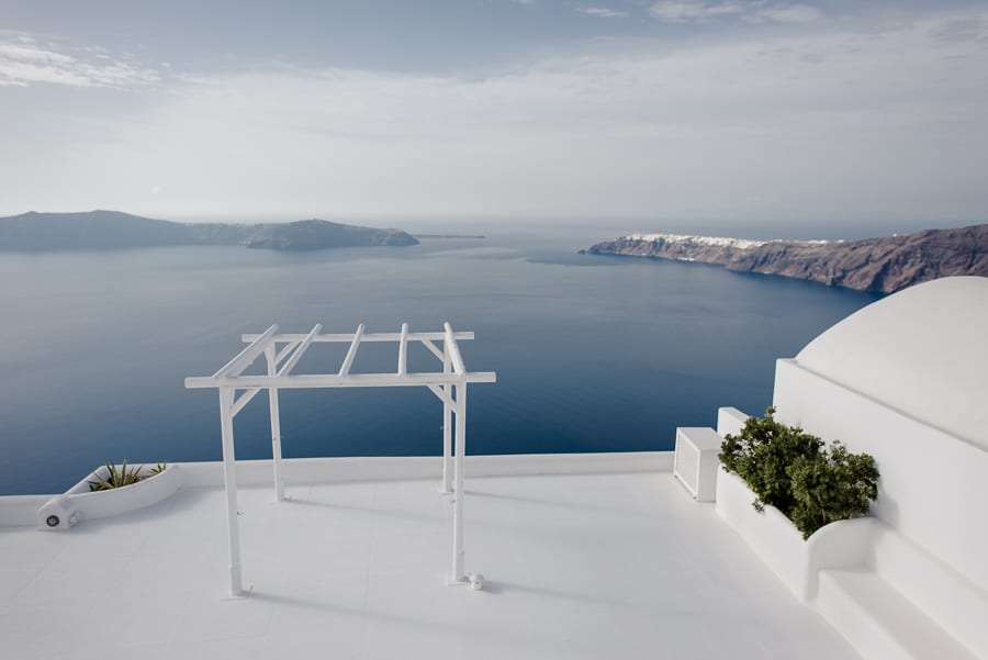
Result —
<path fill-rule="evenodd" d="M 816 596 L 821 570 L 866 563 L 874 518 L 838 521 L 804 540 L 793 522 L 774 506 L 755 511 L 755 497 L 740 477 L 718 470 L 717 513 L 800 601 Z"/>

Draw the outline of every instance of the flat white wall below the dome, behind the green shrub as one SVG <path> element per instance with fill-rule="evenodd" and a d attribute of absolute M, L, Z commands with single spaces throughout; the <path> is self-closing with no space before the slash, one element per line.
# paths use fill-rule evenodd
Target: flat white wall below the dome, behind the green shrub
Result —
<path fill-rule="evenodd" d="M 778 421 L 874 456 L 873 515 L 988 591 L 988 451 L 791 359 L 777 362 L 774 404 Z"/>

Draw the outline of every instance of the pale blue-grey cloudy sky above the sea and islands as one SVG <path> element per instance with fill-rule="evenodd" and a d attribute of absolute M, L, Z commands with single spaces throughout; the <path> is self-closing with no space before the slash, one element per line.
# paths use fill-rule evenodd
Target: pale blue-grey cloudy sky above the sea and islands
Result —
<path fill-rule="evenodd" d="M 985 1 L 0 0 L 0 215 L 950 226 L 986 181 Z"/>

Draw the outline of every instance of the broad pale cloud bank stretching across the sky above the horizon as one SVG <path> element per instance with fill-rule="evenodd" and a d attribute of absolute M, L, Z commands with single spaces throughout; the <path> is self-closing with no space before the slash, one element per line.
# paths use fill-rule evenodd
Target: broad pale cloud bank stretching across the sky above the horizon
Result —
<path fill-rule="evenodd" d="M 166 216 L 976 221 L 988 211 L 988 89 L 972 80 L 988 52 L 939 36 L 956 20 L 611 40 L 485 76 L 171 76 L 139 114 L 43 125 L 10 113 L 0 143 L 25 157 L 0 159 L 3 202 Z M 151 183 L 165 190 L 148 194 Z"/>

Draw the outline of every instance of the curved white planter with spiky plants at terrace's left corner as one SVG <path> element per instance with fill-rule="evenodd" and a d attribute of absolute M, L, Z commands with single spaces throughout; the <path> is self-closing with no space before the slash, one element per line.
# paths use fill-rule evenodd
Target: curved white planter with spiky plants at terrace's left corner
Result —
<path fill-rule="evenodd" d="M 168 466 L 161 472 L 131 485 L 105 491 L 90 490 L 89 482 L 108 476 L 106 466 L 101 466 L 64 495 L 48 500 L 37 512 L 38 529 L 67 529 L 87 518 L 105 518 L 144 508 L 160 502 L 181 486 L 178 466 Z"/>

